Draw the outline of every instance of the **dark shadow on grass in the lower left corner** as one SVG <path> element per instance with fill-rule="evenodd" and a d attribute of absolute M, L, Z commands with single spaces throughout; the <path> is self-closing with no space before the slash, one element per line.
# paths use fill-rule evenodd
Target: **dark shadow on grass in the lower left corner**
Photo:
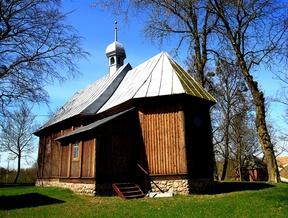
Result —
<path fill-rule="evenodd" d="M 26 207 L 37 207 L 50 204 L 64 203 L 65 201 L 51 198 L 38 193 L 28 193 L 12 196 L 0 196 L 0 210 L 13 210 Z"/>

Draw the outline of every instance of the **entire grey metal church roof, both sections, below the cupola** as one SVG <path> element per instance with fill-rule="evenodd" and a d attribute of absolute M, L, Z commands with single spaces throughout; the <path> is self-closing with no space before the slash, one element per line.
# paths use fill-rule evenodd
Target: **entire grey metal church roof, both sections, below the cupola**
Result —
<path fill-rule="evenodd" d="M 129 64 L 77 92 L 41 129 L 78 114 L 97 114 L 133 98 L 188 94 L 208 101 L 205 91 L 166 52 L 134 69 Z"/>

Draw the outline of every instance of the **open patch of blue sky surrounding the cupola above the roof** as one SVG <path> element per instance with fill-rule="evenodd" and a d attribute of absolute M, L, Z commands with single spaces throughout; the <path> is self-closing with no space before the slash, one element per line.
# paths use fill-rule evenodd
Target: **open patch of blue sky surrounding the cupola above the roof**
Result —
<path fill-rule="evenodd" d="M 91 7 L 93 1 L 72 0 L 63 2 L 63 10 L 69 12 L 67 22 L 72 24 L 83 37 L 83 48 L 91 55 L 87 60 L 78 63 L 81 75 L 63 84 L 53 84 L 47 87 L 50 94 L 50 108 L 60 107 L 77 90 L 84 88 L 108 72 L 108 60 L 105 55 L 106 47 L 114 41 L 114 21 L 118 21 L 118 41 L 124 44 L 127 58 L 132 66 L 144 62 L 161 51 L 159 46 L 146 40 L 141 32 L 143 25 L 138 20 L 124 22 L 120 17 L 112 15 L 100 8 Z M 61 93 L 61 94 L 59 94 Z M 36 106 L 35 111 L 41 115 L 49 114 L 45 105 Z M 45 116 L 39 120 L 45 119 Z"/>

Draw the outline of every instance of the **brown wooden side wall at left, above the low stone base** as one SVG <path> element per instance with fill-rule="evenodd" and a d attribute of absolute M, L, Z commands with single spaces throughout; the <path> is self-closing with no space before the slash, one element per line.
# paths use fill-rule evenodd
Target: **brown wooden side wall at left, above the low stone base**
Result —
<path fill-rule="evenodd" d="M 80 141 L 79 157 L 73 159 L 73 143 L 60 144 L 55 139 L 72 128 L 42 136 L 39 142 L 38 178 L 92 178 L 95 169 L 95 141 Z"/>

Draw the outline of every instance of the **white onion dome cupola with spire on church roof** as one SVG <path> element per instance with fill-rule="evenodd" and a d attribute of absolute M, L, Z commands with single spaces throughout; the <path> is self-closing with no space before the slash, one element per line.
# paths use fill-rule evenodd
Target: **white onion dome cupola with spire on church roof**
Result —
<path fill-rule="evenodd" d="M 106 56 L 109 61 L 109 75 L 113 75 L 124 64 L 126 53 L 124 46 L 117 41 L 117 21 L 115 21 L 115 40 L 106 48 Z"/>

